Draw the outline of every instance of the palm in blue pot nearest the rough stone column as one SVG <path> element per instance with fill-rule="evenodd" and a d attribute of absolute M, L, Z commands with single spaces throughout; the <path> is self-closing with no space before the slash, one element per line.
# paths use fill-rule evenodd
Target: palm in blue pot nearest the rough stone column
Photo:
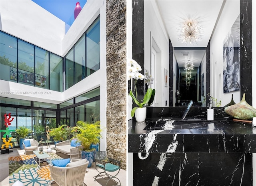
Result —
<path fill-rule="evenodd" d="M 92 166 L 95 151 L 92 144 L 100 142 L 100 133 L 102 132 L 100 121 L 95 123 L 78 121 L 72 132 L 74 133 L 72 139 L 77 139 L 81 144 L 82 159 L 86 158 L 89 161 L 88 167 Z"/>

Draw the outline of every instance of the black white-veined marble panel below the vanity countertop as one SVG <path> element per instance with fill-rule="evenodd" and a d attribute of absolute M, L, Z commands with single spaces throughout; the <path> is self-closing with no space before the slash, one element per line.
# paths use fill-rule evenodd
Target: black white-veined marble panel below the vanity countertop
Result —
<path fill-rule="evenodd" d="M 252 186 L 252 154 L 150 154 L 151 158 L 146 160 L 139 160 L 134 155 L 137 186 Z"/>

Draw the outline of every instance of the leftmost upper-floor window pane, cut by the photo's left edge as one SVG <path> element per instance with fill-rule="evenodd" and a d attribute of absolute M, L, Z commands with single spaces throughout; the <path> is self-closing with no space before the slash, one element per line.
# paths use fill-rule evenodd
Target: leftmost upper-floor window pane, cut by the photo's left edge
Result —
<path fill-rule="evenodd" d="M 17 39 L 0 32 L 0 79 L 17 82 Z"/>

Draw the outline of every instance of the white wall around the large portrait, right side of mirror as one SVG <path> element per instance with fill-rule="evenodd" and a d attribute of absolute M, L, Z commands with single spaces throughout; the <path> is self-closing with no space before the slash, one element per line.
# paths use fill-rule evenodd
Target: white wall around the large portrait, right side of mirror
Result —
<path fill-rule="evenodd" d="M 232 7 L 232 11 L 230 9 Z M 234 91 L 231 93 L 223 93 L 223 41 L 227 36 L 229 30 L 234 24 L 236 18 L 240 15 L 240 1 L 226 1 L 222 14 L 219 18 L 218 24 L 212 34 L 210 42 L 211 50 L 211 70 L 210 73 L 216 77 L 214 82 L 214 76 L 211 78 L 210 84 L 213 85 L 210 88 L 210 92 L 213 97 L 218 100 L 221 99 L 222 106 L 228 104 L 231 101 L 231 95 L 236 103 L 240 102 L 240 91 Z M 216 65 L 214 67 L 214 65 Z M 221 78 L 221 79 L 219 79 Z M 221 82 L 221 84 L 219 84 Z M 217 90 L 216 90 L 217 89 Z M 216 93 L 216 95 L 214 95 Z"/>

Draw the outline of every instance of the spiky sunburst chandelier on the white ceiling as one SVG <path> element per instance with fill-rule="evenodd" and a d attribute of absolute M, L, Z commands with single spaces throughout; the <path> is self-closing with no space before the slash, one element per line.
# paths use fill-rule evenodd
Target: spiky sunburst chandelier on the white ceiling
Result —
<path fill-rule="evenodd" d="M 199 26 L 198 23 L 193 21 L 180 24 L 178 32 L 178 40 L 186 44 L 197 43 L 197 41 L 202 40 L 203 37 L 202 26 Z"/>

